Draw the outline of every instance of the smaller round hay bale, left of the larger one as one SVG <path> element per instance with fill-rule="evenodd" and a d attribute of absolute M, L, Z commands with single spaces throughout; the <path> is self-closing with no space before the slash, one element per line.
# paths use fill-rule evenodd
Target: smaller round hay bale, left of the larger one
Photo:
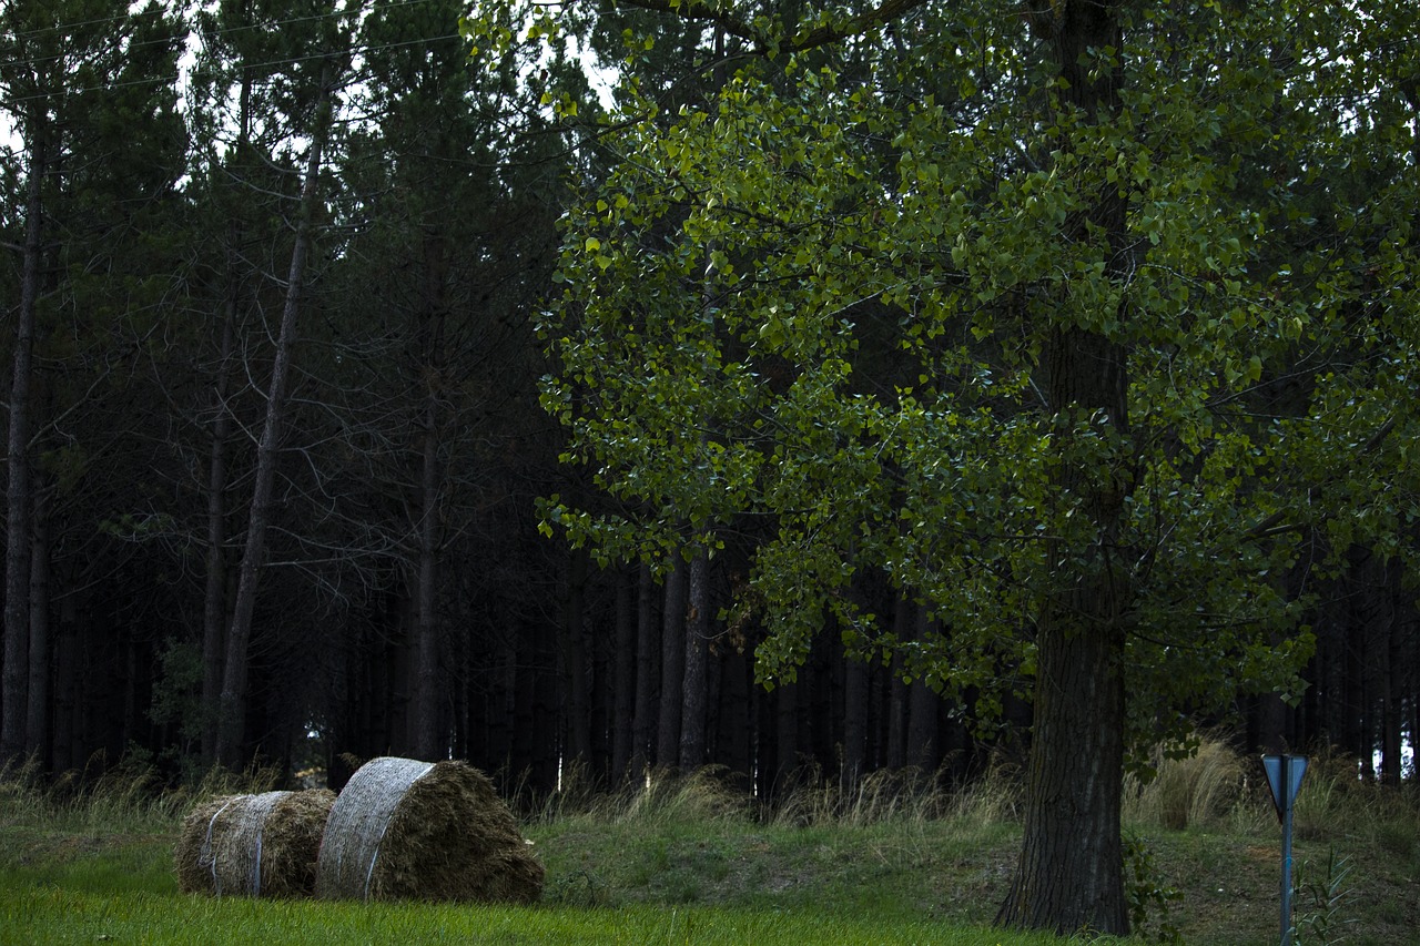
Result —
<path fill-rule="evenodd" d="M 213 896 L 310 896 L 335 793 L 226 795 L 193 808 L 173 848 L 178 888 Z"/>

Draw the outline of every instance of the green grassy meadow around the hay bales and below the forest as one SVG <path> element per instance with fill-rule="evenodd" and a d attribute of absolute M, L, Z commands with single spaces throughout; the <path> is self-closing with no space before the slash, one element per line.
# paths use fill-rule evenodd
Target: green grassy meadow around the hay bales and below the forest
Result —
<path fill-rule="evenodd" d="M 1261 767 L 1223 743 L 1159 760 L 1125 811 L 1127 942 L 1277 943 L 1281 830 Z M 575 780 L 572 780 L 575 781 Z M 82 788 L 0 780 L 0 943 L 1069 942 L 991 928 L 1020 844 L 1017 773 L 961 793 L 905 776 L 801 788 L 758 812 L 714 771 L 619 793 L 567 784 L 527 817 L 547 868 L 534 908 L 183 895 L 172 849 L 203 797 L 142 771 Z M 1314 759 L 1295 817 L 1298 946 L 1420 942 L 1420 804 Z M 1075 942 L 1086 935 L 1071 937 Z"/>

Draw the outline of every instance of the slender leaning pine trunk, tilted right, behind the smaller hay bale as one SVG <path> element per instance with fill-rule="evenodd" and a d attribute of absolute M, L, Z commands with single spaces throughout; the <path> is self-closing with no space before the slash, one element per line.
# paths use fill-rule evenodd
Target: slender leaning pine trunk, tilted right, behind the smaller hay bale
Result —
<path fill-rule="evenodd" d="M 275 486 L 275 466 L 283 433 L 291 359 L 295 349 L 297 315 L 301 308 L 301 290 L 305 278 L 305 257 L 311 244 L 311 223 L 320 197 L 321 152 L 331 126 L 332 89 L 329 77 L 322 78 L 321 101 L 317 107 L 315 129 L 305 159 L 305 180 L 301 186 L 300 217 L 297 219 L 295 243 L 291 249 L 291 268 L 287 277 L 285 305 L 281 310 L 281 331 L 277 337 L 275 361 L 271 366 L 271 382 L 267 389 L 266 423 L 257 442 L 256 483 L 251 490 L 251 513 L 247 520 L 247 537 L 243 545 L 241 567 L 237 577 L 237 598 L 233 607 L 231 628 L 227 632 L 227 653 L 222 673 L 222 700 L 217 724 L 219 763 L 241 767 L 243 741 L 246 739 L 247 710 L 247 659 L 251 642 L 251 619 L 256 614 L 257 584 L 261 575 L 261 560 L 266 555 L 266 533 L 271 523 L 271 497 Z"/>

